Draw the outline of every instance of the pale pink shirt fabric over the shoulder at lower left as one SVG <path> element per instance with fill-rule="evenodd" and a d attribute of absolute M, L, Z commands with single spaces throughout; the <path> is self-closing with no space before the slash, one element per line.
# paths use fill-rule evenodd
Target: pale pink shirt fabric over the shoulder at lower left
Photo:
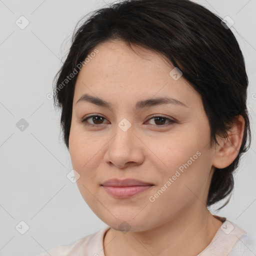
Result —
<path fill-rule="evenodd" d="M 97 232 L 79 238 L 68 245 L 58 245 L 35 256 L 78 256 L 81 254 L 86 256 L 88 245 L 91 243 L 93 243 L 93 245 L 100 244 L 106 229 L 108 229 L 108 227 L 104 227 Z"/>

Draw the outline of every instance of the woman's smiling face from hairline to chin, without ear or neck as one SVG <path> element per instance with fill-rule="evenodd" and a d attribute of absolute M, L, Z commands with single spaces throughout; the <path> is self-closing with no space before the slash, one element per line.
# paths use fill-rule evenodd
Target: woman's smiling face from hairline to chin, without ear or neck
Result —
<path fill-rule="evenodd" d="M 94 213 L 113 229 L 143 231 L 204 206 L 214 150 L 199 93 L 159 54 L 133 48 L 138 54 L 122 41 L 101 43 L 81 68 L 69 152 L 78 188 Z M 109 106 L 81 99 L 84 94 Z M 150 185 L 102 186 L 112 178 Z"/>

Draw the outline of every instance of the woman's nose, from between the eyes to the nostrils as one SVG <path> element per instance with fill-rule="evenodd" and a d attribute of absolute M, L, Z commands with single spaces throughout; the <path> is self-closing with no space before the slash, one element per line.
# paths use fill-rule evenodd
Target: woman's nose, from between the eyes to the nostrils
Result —
<path fill-rule="evenodd" d="M 120 169 L 140 165 L 144 160 L 144 144 L 135 134 L 137 132 L 133 126 L 125 129 L 119 123 L 113 133 L 114 135 L 111 136 L 104 154 L 104 161 Z"/>

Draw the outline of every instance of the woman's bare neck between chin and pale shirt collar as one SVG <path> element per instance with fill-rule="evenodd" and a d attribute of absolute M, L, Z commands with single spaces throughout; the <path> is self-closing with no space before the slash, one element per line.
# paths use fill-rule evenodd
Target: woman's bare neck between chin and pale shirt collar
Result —
<path fill-rule="evenodd" d="M 198 205 L 197 205 L 198 206 Z M 222 222 L 203 205 L 149 230 L 126 232 L 108 229 L 103 239 L 105 256 L 199 254 L 210 243 Z"/>

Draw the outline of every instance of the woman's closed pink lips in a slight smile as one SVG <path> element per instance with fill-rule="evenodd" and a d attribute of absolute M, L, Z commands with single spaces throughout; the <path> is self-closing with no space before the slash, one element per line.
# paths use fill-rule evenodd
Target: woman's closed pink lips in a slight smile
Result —
<path fill-rule="evenodd" d="M 103 182 L 102 186 L 112 196 L 127 198 L 150 188 L 153 184 L 138 179 L 113 178 Z"/>

